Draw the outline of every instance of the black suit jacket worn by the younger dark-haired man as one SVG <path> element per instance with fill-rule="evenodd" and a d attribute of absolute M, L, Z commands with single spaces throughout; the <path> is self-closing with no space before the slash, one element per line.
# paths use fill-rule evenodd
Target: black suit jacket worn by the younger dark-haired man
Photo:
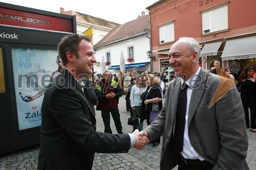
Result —
<path fill-rule="evenodd" d="M 127 152 L 128 134 L 96 132 L 96 119 L 75 78 L 63 69 L 42 102 L 38 169 L 92 169 L 94 153 Z"/>

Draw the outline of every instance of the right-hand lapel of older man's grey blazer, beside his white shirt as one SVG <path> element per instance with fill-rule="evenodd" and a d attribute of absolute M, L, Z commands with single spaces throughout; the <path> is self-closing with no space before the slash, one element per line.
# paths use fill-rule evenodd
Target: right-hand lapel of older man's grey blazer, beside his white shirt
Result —
<path fill-rule="evenodd" d="M 200 101 L 202 100 L 202 96 L 203 96 L 204 90 L 205 90 L 204 82 L 206 80 L 206 76 L 205 76 L 206 74 L 208 76 L 209 72 L 206 73 L 206 71 L 204 71 L 202 68 L 200 68 L 198 80 L 194 84 L 194 88 L 193 88 L 191 98 L 190 98 L 189 110 L 188 110 L 188 120 L 187 120 L 188 126 L 198 108 Z"/>

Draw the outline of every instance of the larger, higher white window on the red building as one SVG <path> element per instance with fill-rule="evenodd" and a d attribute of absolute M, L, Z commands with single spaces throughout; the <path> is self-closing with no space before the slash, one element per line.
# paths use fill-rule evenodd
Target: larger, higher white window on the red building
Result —
<path fill-rule="evenodd" d="M 202 13 L 203 34 L 228 29 L 227 6 Z"/>

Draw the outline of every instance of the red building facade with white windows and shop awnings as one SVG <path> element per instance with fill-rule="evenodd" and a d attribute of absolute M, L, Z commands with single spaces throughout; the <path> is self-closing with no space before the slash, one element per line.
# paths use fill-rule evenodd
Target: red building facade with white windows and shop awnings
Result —
<path fill-rule="evenodd" d="M 150 13 L 153 68 L 168 66 L 168 51 L 179 37 L 194 37 L 201 45 L 199 64 L 204 69 L 220 60 L 234 76 L 255 65 L 256 1 L 160 0 Z M 242 12 L 243 11 L 243 12 Z"/>

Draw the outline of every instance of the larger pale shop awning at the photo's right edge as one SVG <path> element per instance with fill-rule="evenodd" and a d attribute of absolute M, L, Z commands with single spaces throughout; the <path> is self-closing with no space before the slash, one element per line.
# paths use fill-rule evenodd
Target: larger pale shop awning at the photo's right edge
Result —
<path fill-rule="evenodd" d="M 227 40 L 222 61 L 247 58 L 256 58 L 256 36 Z"/>

